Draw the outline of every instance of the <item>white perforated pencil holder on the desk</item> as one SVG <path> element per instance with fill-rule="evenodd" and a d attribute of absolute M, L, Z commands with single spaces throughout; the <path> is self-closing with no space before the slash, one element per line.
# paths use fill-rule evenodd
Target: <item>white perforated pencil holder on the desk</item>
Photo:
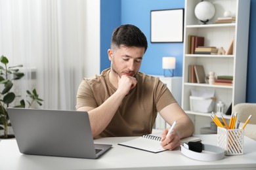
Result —
<path fill-rule="evenodd" d="M 217 144 L 224 148 L 226 156 L 244 154 L 244 129 L 218 127 L 217 136 Z"/>

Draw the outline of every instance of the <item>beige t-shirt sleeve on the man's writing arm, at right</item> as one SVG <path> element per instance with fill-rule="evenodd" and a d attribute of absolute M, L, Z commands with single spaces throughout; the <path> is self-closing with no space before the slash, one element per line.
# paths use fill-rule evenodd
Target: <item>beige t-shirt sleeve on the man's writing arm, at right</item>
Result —
<path fill-rule="evenodd" d="M 176 99 L 173 97 L 173 94 L 170 92 L 169 88 L 160 80 L 158 81 L 157 86 L 157 103 L 156 109 L 160 112 L 163 108 L 167 107 L 172 103 L 177 103 Z"/>

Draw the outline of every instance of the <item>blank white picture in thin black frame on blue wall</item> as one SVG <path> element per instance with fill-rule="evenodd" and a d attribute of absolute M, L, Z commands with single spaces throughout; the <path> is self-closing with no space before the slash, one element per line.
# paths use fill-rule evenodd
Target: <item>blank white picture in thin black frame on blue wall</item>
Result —
<path fill-rule="evenodd" d="M 184 9 L 151 10 L 151 42 L 183 42 Z"/>

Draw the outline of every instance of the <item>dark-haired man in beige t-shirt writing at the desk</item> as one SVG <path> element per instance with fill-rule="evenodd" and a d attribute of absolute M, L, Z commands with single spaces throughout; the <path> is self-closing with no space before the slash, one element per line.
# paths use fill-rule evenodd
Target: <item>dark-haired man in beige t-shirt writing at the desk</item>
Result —
<path fill-rule="evenodd" d="M 111 68 L 82 80 L 76 109 L 88 112 L 93 137 L 151 133 L 160 112 L 169 124 L 177 121 L 170 135 L 166 137 L 168 129 L 162 133 L 161 146 L 173 150 L 194 133 L 194 125 L 159 78 L 139 72 L 147 47 L 138 27 L 117 27 L 108 50 Z"/>

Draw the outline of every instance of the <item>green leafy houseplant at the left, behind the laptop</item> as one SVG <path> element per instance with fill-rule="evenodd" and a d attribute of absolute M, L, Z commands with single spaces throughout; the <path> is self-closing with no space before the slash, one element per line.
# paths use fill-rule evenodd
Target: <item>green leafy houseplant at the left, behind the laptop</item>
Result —
<path fill-rule="evenodd" d="M 0 59 L 2 65 L 0 65 L 0 130 L 4 131 L 4 135 L 0 136 L 2 139 L 7 139 L 14 137 L 14 135 L 8 134 L 8 128 L 11 126 L 11 122 L 9 120 L 9 115 L 7 112 L 7 107 L 11 105 L 16 97 L 20 97 L 19 95 L 15 95 L 12 92 L 13 81 L 19 80 L 24 76 L 24 73 L 21 73 L 19 68 L 23 67 L 23 65 L 16 65 L 12 67 L 7 67 L 9 60 L 5 56 L 1 56 Z M 38 105 L 42 105 L 41 101 L 43 99 L 39 98 L 36 90 L 33 89 L 32 92 L 29 90 L 26 91 L 30 100 L 26 100 L 28 103 L 28 108 L 32 107 L 33 103 L 37 103 Z M 14 107 L 25 108 L 26 102 L 24 99 L 20 100 L 20 105 L 16 105 Z"/>

